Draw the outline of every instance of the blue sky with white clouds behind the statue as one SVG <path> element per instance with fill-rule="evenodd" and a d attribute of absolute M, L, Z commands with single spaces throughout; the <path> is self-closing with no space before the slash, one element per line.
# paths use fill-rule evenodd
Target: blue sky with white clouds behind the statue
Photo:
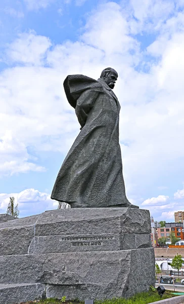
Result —
<path fill-rule="evenodd" d="M 79 133 L 63 81 L 111 66 L 127 197 L 155 220 L 184 210 L 184 0 L 1 0 L 0 213 L 56 209 Z"/>

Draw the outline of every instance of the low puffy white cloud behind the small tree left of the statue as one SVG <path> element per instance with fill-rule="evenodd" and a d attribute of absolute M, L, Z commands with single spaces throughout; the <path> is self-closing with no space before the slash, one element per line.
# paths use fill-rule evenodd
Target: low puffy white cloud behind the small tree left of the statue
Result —
<path fill-rule="evenodd" d="M 51 200 L 49 194 L 30 188 L 20 193 L 0 194 L 0 213 L 6 213 L 10 197 L 15 198 L 15 205 L 18 203 L 19 217 L 29 215 L 30 210 L 31 214 L 38 214 L 58 207 L 58 202 Z"/>

